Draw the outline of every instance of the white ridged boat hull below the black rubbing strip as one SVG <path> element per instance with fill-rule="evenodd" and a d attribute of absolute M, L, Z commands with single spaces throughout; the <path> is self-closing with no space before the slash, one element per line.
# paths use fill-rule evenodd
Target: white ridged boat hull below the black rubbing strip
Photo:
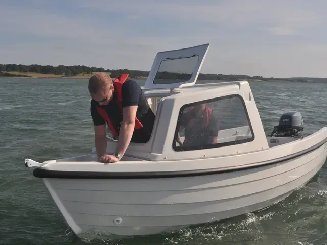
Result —
<path fill-rule="evenodd" d="M 283 200 L 317 174 L 326 161 L 325 144 L 292 160 L 230 173 L 43 181 L 76 235 L 151 235 L 235 217 Z"/>

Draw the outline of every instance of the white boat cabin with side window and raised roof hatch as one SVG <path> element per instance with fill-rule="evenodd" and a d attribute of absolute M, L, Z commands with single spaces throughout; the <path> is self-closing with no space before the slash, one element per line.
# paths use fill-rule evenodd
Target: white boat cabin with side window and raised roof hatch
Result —
<path fill-rule="evenodd" d="M 208 48 L 157 53 L 143 86 L 155 114 L 152 135 L 146 143 L 130 143 L 121 161 L 212 158 L 269 148 L 247 81 L 195 84 Z M 115 144 L 108 140 L 107 153 Z"/>

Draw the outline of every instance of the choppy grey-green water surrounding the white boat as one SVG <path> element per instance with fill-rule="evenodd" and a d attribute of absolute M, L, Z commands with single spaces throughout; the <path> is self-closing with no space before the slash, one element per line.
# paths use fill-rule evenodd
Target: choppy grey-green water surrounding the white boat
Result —
<path fill-rule="evenodd" d="M 267 134 L 291 110 L 302 113 L 306 134 L 327 126 L 327 84 L 250 85 Z M 66 236 L 63 218 L 24 159 L 45 161 L 91 151 L 87 80 L 0 78 L 0 136 L 0 244 L 327 243 L 327 165 L 283 202 L 224 222 L 135 239 Z"/>

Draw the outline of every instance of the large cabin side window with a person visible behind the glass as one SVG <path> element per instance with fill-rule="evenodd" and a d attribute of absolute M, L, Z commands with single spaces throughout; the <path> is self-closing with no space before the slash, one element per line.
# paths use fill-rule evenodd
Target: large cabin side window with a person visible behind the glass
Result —
<path fill-rule="evenodd" d="M 233 94 L 182 106 L 173 149 L 190 151 L 241 144 L 254 140 L 240 95 Z"/>

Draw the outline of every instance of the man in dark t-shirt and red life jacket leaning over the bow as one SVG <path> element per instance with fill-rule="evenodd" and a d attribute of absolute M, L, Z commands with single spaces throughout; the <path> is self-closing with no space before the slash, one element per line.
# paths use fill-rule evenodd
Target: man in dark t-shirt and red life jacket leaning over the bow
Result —
<path fill-rule="evenodd" d="M 98 73 L 88 82 L 95 146 L 101 162 L 118 162 L 130 142 L 146 143 L 152 133 L 154 113 L 141 87 L 127 78 L 128 74 L 121 74 L 113 81 L 108 74 Z M 112 155 L 106 154 L 106 123 L 113 135 L 119 136 Z"/>

